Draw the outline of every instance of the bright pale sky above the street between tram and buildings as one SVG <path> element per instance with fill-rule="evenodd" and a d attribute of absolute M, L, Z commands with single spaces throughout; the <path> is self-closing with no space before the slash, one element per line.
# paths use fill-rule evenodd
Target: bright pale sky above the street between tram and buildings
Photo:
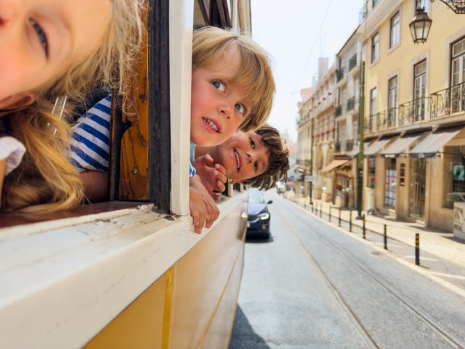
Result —
<path fill-rule="evenodd" d="M 252 38 L 273 61 L 276 95 L 268 124 L 297 140 L 300 89 L 311 87 L 318 58 L 335 55 L 358 26 L 363 0 L 250 0 Z"/>

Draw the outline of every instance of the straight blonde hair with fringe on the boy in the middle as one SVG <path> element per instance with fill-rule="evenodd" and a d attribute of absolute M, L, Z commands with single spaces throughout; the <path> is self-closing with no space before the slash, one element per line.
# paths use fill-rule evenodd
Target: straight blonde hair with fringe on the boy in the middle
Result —
<path fill-rule="evenodd" d="M 253 131 L 268 119 L 275 93 L 270 58 L 263 48 L 245 35 L 216 27 L 203 27 L 193 34 L 192 71 L 221 61 L 231 47 L 238 50 L 242 61 L 241 73 L 232 82 L 246 89 L 252 104 L 239 129 Z"/>

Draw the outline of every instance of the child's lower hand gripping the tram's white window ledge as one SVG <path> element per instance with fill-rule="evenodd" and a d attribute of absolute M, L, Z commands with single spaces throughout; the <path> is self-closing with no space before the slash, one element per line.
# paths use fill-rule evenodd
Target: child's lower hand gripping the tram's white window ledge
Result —
<path fill-rule="evenodd" d="M 200 177 L 197 174 L 190 178 L 189 207 L 194 230 L 197 234 L 201 233 L 204 225 L 206 228 L 211 228 L 213 222 L 220 216 L 220 209 L 218 209 L 211 195 L 201 184 Z"/>

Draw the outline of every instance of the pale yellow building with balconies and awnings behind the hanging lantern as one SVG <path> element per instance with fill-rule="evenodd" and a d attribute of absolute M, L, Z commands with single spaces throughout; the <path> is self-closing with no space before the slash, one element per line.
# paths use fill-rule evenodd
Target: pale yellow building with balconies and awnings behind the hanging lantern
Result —
<path fill-rule="evenodd" d="M 418 45 L 417 2 L 432 19 Z M 465 16 L 429 0 L 367 1 L 361 14 L 363 209 L 452 231 L 465 200 Z"/>

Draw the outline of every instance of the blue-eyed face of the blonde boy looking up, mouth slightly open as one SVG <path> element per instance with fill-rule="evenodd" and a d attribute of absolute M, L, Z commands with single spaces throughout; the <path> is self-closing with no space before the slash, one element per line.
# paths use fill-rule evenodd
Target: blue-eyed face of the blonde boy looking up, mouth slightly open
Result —
<path fill-rule="evenodd" d="M 220 144 L 249 114 L 245 89 L 231 83 L 240 69 L 241 56 L 231 49 L 217 64 L 192 72 L 191 143 L 202 147 Z"/>

